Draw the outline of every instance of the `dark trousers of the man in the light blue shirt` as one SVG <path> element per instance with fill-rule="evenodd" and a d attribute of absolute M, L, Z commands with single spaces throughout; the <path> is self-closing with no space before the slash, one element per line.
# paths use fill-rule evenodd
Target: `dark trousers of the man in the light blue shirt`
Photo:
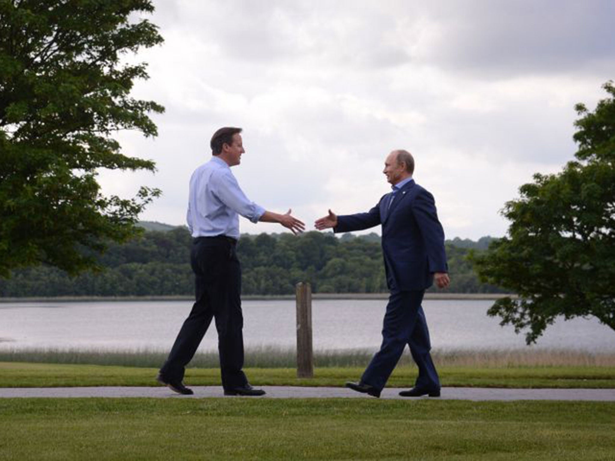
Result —
<path fill-rule="evenodd" d="M 196 276 L 196 302 L 160 371 L 169 380 L 183 380 L 186 364 L 194 357 L 212 318 L 215 318 L 222 386 L 225 389 L 244 387 L 248 380 L 242 371 L 241 266 L 235 243 L 222 236 L 196 238 L 190 262 Z"/>

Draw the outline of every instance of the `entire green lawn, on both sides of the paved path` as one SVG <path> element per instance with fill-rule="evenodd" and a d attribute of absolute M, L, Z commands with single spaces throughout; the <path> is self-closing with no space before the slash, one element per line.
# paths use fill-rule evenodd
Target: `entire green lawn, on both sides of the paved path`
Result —
<path fill-rule="evenodd" d="M 248 368 L 331 385 L 363 368 Z M 615 388 L 615 367 L 442 367 L 445 386 Z M 0 363 L 0 387 L 156 385 L 156 368 Z M 410 387 L 402 366 L 391 387 Z M 189 368 L 188 385 L 220 385 Z M 0 399 L 0 460 L 615 460 L 615 403 L 376 399 Z"/>

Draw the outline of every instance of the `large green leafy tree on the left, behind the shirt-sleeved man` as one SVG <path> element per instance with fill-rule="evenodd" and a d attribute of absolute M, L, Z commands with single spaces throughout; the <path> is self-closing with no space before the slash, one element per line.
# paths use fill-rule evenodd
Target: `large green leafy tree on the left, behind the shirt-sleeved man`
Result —
<path fill-rule="evenodd" d="M 0 0 L 0 277 L 49 264 L 97 267 L 106 242 L 137 234 L 160 194 L 102 194 L 97 170 L 154 170 L 113 136 L 156 136 L 153 101 L 130 96 L 146 65 L 129 53 L 162 42 L 150 0 Z"/>

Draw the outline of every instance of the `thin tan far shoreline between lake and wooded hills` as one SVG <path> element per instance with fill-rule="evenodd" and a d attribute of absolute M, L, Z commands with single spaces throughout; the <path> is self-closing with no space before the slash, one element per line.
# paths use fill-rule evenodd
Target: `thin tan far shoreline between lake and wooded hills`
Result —
<path fill-rule="evenodd" d="M 516 294 L 505 293 L 425 293 L 424 299 L 438 300 L 486 300 L 496 301 L 502 297 L 516 298 Z M 242 301 L 292 301 L 294 294 L 246 294 Z M 313 293 L 312 299 L 389 299 L 389 293 Z M 193 296 L 25 296 L 0 297 L 3 302 L 126 302 L 126 301 L 194 301 Z"/>

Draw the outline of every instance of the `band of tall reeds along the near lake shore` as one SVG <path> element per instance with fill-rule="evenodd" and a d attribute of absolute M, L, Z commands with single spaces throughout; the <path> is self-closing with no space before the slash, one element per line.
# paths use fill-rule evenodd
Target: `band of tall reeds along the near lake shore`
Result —
<path fill-rule="evenodd" d="M 315 350 L 317 367 L 366 366 L 373 353 L 367 349 Z M 28 363 L 71 363 L 157 368 L 167 357 L 161 350 L 103 349 L 0 349 L 0 361 Z M 548 366 L 615 366 L 615 352 L 585 352 L 568 349 L 484 349 L 434 350 L 438 366 L 468 368 L 520 368 Z M 402 366 L 414 366 L 406 351 Z M 217 368 L 218 352 L 199 352 L 190 366 Z M 245 351 L 247 368 L 293 368 L 296 350 L 293 347 L 252 347 Z"/>

